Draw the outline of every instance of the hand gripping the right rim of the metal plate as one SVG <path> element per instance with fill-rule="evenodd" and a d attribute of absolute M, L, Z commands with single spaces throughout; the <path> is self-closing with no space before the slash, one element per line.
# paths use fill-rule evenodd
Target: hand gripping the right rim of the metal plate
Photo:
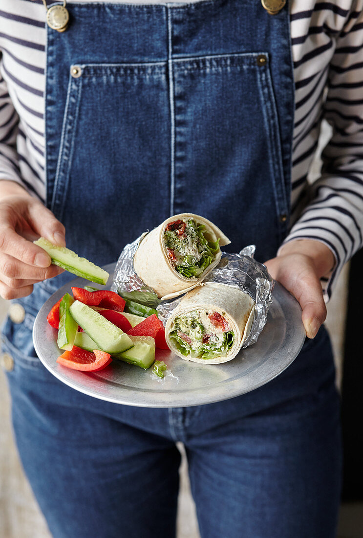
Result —
<path fill-rule="evenodd" d="M 320 278 L 335 264 L 332 251 L 314 239 L 286 243 L 279 256 L 266 261 L 271 276 L 294 295 L 302 308 L 302 322 L 308 338 L 314 338 L 326 318 Z"/>

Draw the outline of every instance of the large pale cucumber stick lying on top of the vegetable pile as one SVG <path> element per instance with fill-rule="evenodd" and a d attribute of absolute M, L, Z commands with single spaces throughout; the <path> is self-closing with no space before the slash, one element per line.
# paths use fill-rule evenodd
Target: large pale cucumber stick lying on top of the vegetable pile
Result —
<path fill-rule="evenodd" d="M 80 327 L 96 342 L 97 348 L 95 349 L 112 355 L 133 347 L 131 338 L 101 314 L 98 314 L 96 310 L 92 310 L 80 301 L 74 301 L 69 310 Z"/>

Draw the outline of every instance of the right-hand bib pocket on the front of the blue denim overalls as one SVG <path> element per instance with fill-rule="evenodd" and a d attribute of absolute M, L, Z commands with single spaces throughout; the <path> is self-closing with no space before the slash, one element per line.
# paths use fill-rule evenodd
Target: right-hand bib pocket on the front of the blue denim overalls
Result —
<path fill-rule="evenodd" d="M 268 54 L 175 59 L 173 96 L 174 212 L 193 206 L 233 252 L 255 243 L 258 257 L 273 254 L 288 204 Z"/>

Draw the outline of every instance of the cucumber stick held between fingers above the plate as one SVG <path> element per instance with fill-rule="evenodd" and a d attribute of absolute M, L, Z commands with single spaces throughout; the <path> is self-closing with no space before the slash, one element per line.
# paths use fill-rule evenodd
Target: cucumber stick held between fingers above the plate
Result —
<path fill-rule="evenodd" d="M 106 284 L 108 281 L 110 275 L 107 271 L 92 264 L 86 258 L 80 258 L 78 254 L 66 249 L 65 246 L 53 245 L 44 237 L 34 241 L 34 244 L 40 246 L 49 254 L 53 265 L 59 265 L 69 273 L 76 274 L 77 277 L 86 278 L 91 282 L 97 282 L 97 284 Z"/>

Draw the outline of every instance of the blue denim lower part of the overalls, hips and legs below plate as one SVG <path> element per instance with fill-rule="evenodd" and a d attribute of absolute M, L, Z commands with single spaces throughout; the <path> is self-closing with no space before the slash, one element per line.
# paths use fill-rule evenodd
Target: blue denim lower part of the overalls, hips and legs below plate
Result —
<path fill-rule="evenodd" d="M 54 538 L 175 536 L 186 447 L 203 538 L 333 538 L 339 399 L 322 328 L 255 391 L 217 404 L 128 407 L 88 397 L 34 355 L 27 318 L 3 328 L 20 457 Z M 22 351 L 19 351 L 22 349 Z"/>

